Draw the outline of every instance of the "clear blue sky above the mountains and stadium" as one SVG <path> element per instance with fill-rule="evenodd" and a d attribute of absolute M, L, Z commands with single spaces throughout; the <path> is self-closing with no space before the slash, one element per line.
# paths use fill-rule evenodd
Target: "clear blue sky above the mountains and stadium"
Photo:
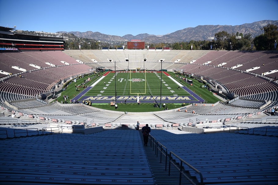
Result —
<path fill-rule="evenodd" d="M 278 0 L 0 0 L 0 24 L 17 30 L 165 35 L 198 25 L 278 20 Z"/>

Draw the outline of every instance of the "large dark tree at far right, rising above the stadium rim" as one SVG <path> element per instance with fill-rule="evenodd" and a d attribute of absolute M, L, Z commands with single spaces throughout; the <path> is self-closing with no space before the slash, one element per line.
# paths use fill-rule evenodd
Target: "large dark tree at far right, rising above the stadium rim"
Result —
<path fill-rule="evenodd" d="M 277 26 L 268 24 L 261 30 L 264 30 L 264 34 L 261 34 L 254 38 L 254 45 L 257 50 L 273 50 L 274 43 L 278 40 Z"/>

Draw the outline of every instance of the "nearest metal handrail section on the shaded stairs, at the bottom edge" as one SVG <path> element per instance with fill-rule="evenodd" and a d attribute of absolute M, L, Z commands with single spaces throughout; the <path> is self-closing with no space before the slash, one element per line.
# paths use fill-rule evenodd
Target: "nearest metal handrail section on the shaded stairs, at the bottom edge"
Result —
<path fill-rule="evenodd" d="M 180 166 L 176 165 L 175 162 L 171 161 L 171 155 L 174 155 L 176 158 L 178 158 L 181 161 Z M 180 178 L 179 178 L 179 185 L 181 185 L 181 175 L 183 175 L 190 183 L 192 183 L 193 185 L 196 185 L 196 183 L 194 183 L 183 171 L 182 171 L 182 164 L 187 165 L 189 168 L 193 169 L 196 173 L 199 174 L 200 176 L 200 185 L 203 185 L 203 175 L 201 172 L 199 172 L 199 170 L 197 170 L 196 168 L 194 168 L 192 165 L 188 164 L 187 162 L 185 162 L 183 159 L 181 159 L 180 157 L 178 157 L 176 154 L 174 154 L 173 152 L 170 151 L 170 155 L 169 155 L 169 173 L 168 176 L 170 176 L 170 169 L 171 169 L 171 164 L 174 165 L 174 167 L 176 169 L 178 169 L 180 171 Z"/>

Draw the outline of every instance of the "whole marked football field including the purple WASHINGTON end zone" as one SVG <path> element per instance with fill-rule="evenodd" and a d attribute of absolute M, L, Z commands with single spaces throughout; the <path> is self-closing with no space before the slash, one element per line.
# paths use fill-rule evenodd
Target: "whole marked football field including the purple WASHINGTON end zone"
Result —
<path fill-rule="evenodd" d="M 161 91 L 160 91 L 161 87 Z M 180 88 L 178 88 L 180 87 Z M 160 72 L 107 72 L 82 94 L 76 96 L 79 101 L 91 100 L 92 103 L 117 102 L 134 103 L 194 103 L 202 98 L 184 87 L 168 73 Z"/>

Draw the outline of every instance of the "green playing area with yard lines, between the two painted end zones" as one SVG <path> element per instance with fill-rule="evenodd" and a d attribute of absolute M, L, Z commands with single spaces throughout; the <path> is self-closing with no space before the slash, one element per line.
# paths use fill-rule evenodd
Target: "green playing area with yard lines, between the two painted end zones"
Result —
<path fill-rule="evenodd" d="M 109 73 L 84 96 L 160 96 L 161 73 Z M 105 85 L 104 85 L 105 82 Z M 162 96 L 191 96 L 162 73 Z M 100 95 L 101 94 L 101 95 Z"/>

